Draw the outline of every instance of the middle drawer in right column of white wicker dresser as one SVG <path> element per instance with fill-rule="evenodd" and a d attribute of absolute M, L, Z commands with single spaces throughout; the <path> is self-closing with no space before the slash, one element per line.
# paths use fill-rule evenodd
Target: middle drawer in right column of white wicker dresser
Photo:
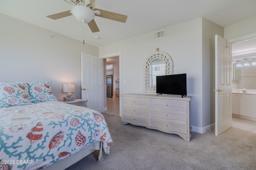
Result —
<path fill-rule="evenodd" d="M 187 112 L 163 109 L 150 109 L 150 117 L 168 121 L 181 121 L 187 123 Z"/>

